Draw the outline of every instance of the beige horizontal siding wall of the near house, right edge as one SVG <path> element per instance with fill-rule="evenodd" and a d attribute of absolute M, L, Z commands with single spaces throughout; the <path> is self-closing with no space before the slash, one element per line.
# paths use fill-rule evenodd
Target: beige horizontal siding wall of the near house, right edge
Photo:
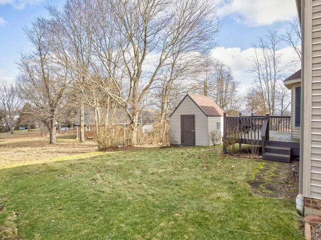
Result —
<path fill-rule="evenodd" d="M 303 195 L 321 199 L 321 0 L 305 9 Z"/>

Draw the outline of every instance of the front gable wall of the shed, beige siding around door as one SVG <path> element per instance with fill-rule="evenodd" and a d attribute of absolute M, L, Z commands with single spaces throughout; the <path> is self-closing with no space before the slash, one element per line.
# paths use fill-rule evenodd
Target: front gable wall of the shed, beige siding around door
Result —
<path fill-rule="evenodd" d="M 171 144 L 181 144 L 181 115 L 195 115 L 195 145 L 208 146 L 208 117 L 189 96 L 171 116 Z"/>

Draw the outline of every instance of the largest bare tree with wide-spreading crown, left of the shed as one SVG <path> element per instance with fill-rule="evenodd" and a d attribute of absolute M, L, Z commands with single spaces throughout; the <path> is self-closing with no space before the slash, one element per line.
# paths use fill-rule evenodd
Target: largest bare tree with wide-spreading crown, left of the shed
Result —
<path fill-rule="evenodd" d="M 218 20 L 210 1 L 104 3 L 106 15 L 97 22 L 100 27 L 96 38 L 107 38 L 102 39 L 104 46 L 100 51 L 97 48 L 96 53 L 114 87 L 106 87 L 101 78 L 97 82 L 126 111 L 130 119 L 130 144 L 135 144 L 142 103 L 155 87 L 163 67 L 175 55 L 208 51 L 215 44 Z M 107 46 L 112 53 L 109 50 L 108 55 L 103 55 L 101 50 Z M 150 67 L 144 69 L 147 65 Z"/>

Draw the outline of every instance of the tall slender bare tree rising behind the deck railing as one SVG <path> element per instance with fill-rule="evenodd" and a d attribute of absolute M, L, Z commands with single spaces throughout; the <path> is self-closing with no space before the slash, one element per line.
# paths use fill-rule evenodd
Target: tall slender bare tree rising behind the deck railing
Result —
<path fill-rule="evenodd" d="M 278 82 L 284 77 L 284 70 L 289 67 L 289 65 L 282 65 L 280 61 L 281 54 L 278 50 L 281 41 L 278 30 L 273 30 L 264 37 L 259 37 L 258 44 L 253 44 L 254 56 L 251 59 L 253 63 L 251 71 L 256 73 L 254 86 L 271 115 L 275 114 L 278 104 Z"/>

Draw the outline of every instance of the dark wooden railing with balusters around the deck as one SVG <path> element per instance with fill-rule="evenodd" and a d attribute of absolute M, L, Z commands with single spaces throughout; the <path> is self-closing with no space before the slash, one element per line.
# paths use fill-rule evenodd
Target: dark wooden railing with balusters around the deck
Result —
<path fill-rule="evenodd" d="M 264 126 L 264 129 L 263 129 Z M 269 140 L 269 131 L 291 131 L 291 117 L 289 116 L 233 116 L 224 113 L 223 142 L 233 134 L 238 139 L 239 147 L 242 143 L 253 144 L 261 141 L 262 145 Z M 263 135 L 263 136 L 262 136 Z M 224 144 L 225 145 L 225 144 Z M 226 148 L 223 146 L 226 153 Z"/>

